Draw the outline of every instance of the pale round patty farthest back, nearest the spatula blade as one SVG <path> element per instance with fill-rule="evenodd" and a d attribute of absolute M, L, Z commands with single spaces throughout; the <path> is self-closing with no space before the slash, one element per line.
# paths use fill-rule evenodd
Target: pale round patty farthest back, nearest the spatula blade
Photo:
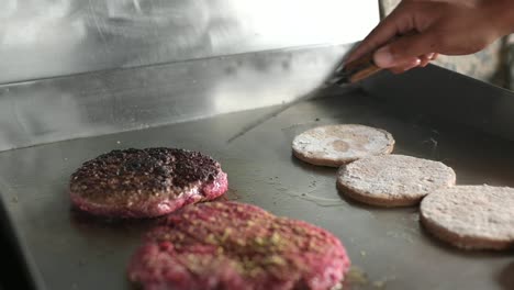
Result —
<path fill-rule="evenodd" d="M 298 135 L 292 149 L 297 158 L 313 165 L 338 167 L 362 157 L 392 152 L 394 138 L 383 130 L 364 125 L 328 125 Z"/>

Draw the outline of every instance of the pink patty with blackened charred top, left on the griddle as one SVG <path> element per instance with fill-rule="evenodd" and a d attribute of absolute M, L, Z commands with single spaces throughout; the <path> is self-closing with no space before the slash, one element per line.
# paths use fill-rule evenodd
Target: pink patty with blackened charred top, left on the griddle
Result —
<path fill-rule="evenodd" d="M 228 188 L 220 164 L 198 152 L 175 148 L 113 150 L 71 175 L 71 202 L 112 217 L 152 217 L 212 200 Z"/>

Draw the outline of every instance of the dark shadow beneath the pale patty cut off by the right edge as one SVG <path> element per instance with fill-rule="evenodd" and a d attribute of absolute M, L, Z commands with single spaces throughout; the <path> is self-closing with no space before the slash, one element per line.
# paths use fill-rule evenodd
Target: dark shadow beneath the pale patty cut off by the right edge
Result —
<path fill-rule="evenodd" d="M 469 259 L 477 259 L 477 258 L 485 258 L 490 259 L 491 257 L 505 257 L 505 255 L 512 255 L 514 254 L 514 249 L 506 249 L 506 250 L 493 250 L 493 249 L 461 249 L 457 248 L 455 246 L 451 246 L 450 244 L 440 241 L 439 238 L 435 237 L 432 233 L 429 233 L 423 224 L 420 224 L 420 231 L 423 237 L 425 237 L 431 244 L 437 246 L 442 250 L 455 255 L 455 256 L 460 256 L 460 257 L 466 257 Z M 513 266 L 514 267 L 514 266 Z M 511 269 L 511 274 L 514 275 L 514 269 Z M 514 277 L 513 277 L 514 279 Z M 514 289 L 514 288 L 505 288 L 505 289 Z"/>

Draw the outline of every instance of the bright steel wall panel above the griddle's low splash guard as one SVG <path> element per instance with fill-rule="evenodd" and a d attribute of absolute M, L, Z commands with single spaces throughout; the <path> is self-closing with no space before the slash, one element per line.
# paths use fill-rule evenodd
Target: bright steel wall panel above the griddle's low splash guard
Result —
<path fill-rule="evenodd" d="M 377 0 L 2 0 L 0 83 L 361 40 Z"/>

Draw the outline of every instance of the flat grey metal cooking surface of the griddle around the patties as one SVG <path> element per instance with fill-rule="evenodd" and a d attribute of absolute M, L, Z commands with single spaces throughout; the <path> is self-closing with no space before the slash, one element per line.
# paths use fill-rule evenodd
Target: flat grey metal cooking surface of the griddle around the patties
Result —
<path fill-rule="evenodd" d="M 450 248 L 420 226 L 417 208 L 377 209 L 345 200 L 335 168 L 291 155 L 292 138 L 314 126 L 359 123 L 390 131 L 394 153 L 442 160 L 457 182 L 514 186 L 513 144 L 407 111 L 390 113 L 361 92 L 297 104 L 234 140 L 277 108 L 0 154 L 0 192 L 26 254 L 47 289 L 128 289 L 125 269 L 153 221 L 105 222 L 70 209 L 68 178 L 81 163 L 115 148 L 201 150 L 228 174 L 232 200 L 301 219 L 335 233 L 366 279 L 351 289 L 512 289 L 513 253 Z"/>

